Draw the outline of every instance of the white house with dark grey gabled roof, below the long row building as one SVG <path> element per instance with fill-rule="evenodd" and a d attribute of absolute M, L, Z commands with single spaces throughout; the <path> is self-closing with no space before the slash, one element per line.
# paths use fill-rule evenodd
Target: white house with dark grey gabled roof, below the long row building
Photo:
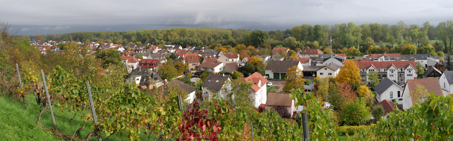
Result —
<path fill-rule="evenodd" d="M 403 105 L 403 88 L 389 78 L 384 78 L 378 85 L 374 86 L 376 100 L 378 102 L 390 100 Z"/>

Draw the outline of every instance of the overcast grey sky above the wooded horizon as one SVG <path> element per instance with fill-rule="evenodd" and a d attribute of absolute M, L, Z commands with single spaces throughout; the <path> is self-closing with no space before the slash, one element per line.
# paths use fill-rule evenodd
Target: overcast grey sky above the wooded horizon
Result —
<path fill-rule="evenodd" d="M 169 28 L 286 30 L 304 24 L 422 25 L 453 20 L 453 1 L 0 0 L 16 35 Z"/>

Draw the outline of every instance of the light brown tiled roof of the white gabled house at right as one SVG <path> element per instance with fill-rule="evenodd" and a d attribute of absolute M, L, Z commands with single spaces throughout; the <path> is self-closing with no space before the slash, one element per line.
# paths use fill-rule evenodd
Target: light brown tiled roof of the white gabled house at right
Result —
<path fill-rule="evenodd" d="M 433 92 L 437 96 L 443 96 L 442 88 L 440 88 L 439 80 L 437 78 L 424 78 L 424 79 L 414 79 L 414 80 L 407 80 L 406 87 L 409 88 L 409 93 L 415 91 L 416 84 L 420 84 L 428 90 L 428 93 Z M 406 90 L 406 89 L 405 89 Z M 404 94 L 404 91 L 403 91 Z M 411 96 L 412 103 L 415 103 L 414 96 Z"/>

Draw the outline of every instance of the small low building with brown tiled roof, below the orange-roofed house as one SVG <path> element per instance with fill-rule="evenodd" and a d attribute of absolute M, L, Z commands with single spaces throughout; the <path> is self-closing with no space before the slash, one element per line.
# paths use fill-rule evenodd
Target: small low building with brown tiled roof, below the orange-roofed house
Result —
<path fill-rule="evenodd" d="M 294 100 L 289 96 L 290 93 L 283 92 L 268 92 L 266 100 L 266 108 L 272 109 L 276 107 L 284 107 L 288 110 L 289 114 L 293 114 Z"/>

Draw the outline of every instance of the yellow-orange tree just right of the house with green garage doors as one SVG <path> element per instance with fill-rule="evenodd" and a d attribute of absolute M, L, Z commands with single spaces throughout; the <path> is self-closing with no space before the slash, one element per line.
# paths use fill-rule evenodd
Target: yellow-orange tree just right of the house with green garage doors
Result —
<path fill-rule="evenodd" d="M 291 89 L 304 88 L 306 81 L 302 77 L 304 77 L 304 74 L 297 66 L 289 68 L 285 75 L 286 83 L 283 86 L 283 91 L 289 92 Z"/>

